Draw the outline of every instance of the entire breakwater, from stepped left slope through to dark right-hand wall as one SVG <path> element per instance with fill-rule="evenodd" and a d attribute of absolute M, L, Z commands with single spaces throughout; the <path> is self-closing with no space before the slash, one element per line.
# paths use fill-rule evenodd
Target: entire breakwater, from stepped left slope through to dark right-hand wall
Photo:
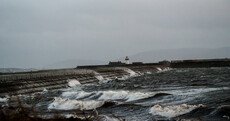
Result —
<path fill-rule="evenodd" d="M 165 68 L 230 67 L 230 59 L 173 60 L 159 63 L 124 65 L 89 65 L 72 69 L 40 70 L 31 72 L 0 73 L 0 96 L 28 94 L 67 88 L 68 80 L 81 84 L 102 80 L 121 79 L 135 74 L 156 72 Z"/>

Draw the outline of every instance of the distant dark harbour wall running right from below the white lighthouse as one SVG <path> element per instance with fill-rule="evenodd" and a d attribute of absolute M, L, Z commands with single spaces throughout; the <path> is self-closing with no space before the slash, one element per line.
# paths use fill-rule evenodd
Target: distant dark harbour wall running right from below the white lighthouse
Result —
<path fill-rule="evenodd" d="M 87 65 L 78 66 L 78 69 L 97 69 L 110 67 L 127 67 L 127 68 L 146 68 L 146 67 L 170 67 L 170 68 L 208 68 L 208 67 L 230 67 L 230 59 L 192 59 L 192 60 L 164 60 L 158 63 L 134 62 L 132 64 L 112 64 L 112 65 Z"/>

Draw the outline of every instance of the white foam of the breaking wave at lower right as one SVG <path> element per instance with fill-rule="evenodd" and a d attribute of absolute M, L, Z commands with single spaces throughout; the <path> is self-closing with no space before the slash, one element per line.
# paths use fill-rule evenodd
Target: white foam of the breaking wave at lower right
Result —
<path fill-rule="evenodd" d="M 164 117 L 176 117 L 182 114 L 186 114 L 196 108 L 202 107 L 203 105 L 187 105 L 187 104 L 182 104 L 182 105 L 175 105 L 175 106 L 161 106 L 159 104 L 154 105 L 150 109 L 150 113 L 153 115 L 160 115 Z"/>

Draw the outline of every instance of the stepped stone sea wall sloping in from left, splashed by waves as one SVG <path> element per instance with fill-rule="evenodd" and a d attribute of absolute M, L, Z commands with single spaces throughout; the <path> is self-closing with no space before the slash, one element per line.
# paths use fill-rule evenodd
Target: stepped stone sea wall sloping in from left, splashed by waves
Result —
<path fill-rule="evenodd" d="M 134 73 L 155 72 L 164 66 L 104 67 L 95 69 L 59 69 L 21 73 L 0 74 L 0 97 L 28 94 L 68 88 L 68 80 L 76 79 L 81 84 L 98 83 L 102 79 L 113 80 L 129 77 Z M 100 77 L 100 78 L 98 78 Z"/>

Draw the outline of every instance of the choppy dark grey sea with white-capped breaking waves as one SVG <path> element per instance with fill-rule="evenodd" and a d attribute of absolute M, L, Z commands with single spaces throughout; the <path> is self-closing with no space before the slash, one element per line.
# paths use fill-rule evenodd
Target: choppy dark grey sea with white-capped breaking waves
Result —
<path fill-rule="evenodd" d="M 108 120 L 230 120 L 230 68 L 129 71 L 130 77 L 106 80 L 99 75 L 99 83 L 70 80 L 67 89 L 44 89 L 33 105 L 41 115 L 67 117 L 96 109 Z"/>

